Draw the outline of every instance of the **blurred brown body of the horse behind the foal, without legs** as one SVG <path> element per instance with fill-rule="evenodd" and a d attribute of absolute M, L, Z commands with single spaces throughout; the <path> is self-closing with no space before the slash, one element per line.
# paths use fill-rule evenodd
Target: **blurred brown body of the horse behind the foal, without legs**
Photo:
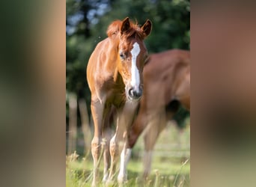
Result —
<path fill-rule="evenodd" d="M 154 105 L 168 105 L 174 99 L 187 99 L 190 89 L 189 51 L 171 49 L 150 55 L 144 67 L 144 83 L 145 94 L 159 97 Z"/>

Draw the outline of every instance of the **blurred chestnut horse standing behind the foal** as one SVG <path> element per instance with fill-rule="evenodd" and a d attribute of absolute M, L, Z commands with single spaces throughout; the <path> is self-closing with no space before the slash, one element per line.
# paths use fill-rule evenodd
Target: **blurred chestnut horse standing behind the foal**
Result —
<path fill-rule="evenodd" d="M 166 121 L 179 105 L 190 110 L 190 53 L 173 49 L 150 55 L 144 66 L 144 92 L 128 135 L 127 150 L 135 145 L 144 131 L 144 177 L 150 172 L 152 150 Z"/>

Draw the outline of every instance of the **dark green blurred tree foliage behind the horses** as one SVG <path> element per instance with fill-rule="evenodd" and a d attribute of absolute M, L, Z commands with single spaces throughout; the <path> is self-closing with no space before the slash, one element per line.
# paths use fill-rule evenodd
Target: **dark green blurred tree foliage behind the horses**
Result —
<path fill-rule="evenodd" d="M 86 82 L 88 58 L 98 42 L 106 38 L 106 29 L 115 19 L 129 16 L 139 24 L 153 22 L 145 40 L 148 52 L 189 49 L 190 2 L 187 0 L 67 0 L 67 93 L 90 103 Z M 67 112 L 68 114 L 68 112 Z"/>

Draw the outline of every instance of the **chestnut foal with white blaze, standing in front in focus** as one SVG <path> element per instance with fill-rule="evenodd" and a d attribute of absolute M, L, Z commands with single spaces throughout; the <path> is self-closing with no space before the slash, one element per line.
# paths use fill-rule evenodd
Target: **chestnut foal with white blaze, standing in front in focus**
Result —
<path fill-rule="evenodd" d="M 92 186 L 97 186 L 99 182 L 103 138 L 106 140 L 103 182 L 113 180 L 119 142 L 124 141 L 124 146 L 127 144 L 124 132 L 131 126 L 143 89 L 142 71 L 147 59 L 143 40 L 150 34 L 151 28 L 149 19 L 141 27 L 130 22 L 128 17 L 123 21 L 112 22 L 107 31 L 108 37 L 97 44 L 89 59 L 87 80 L 91 90 L 91 114 L 94 120 L 94 138 L 91 141 L 94 159 Z M 113 107 L 118 117 L 115 135 L 111 138 L 108 128 Z M 122 166 L 129 154 L 124 149 L 121 153 L 119 183 L 126 179 L 126 168 Z"/>

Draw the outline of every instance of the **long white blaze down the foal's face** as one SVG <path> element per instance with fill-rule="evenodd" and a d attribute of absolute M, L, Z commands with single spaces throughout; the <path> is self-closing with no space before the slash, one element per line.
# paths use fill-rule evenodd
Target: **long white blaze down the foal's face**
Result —
<path fill-rule="evenodd" d="M 135 91 L 138 91 L 140 80 L 139 80 L 139 73 L 138 73 L 138 67 L 136 66 L 136 59 L 141 49 L 138 46 L 138 43 L 133 43 L 133 48 L 131 50 L 132 54 L 132 81 L 131 85 L 135 89 Z"/>

